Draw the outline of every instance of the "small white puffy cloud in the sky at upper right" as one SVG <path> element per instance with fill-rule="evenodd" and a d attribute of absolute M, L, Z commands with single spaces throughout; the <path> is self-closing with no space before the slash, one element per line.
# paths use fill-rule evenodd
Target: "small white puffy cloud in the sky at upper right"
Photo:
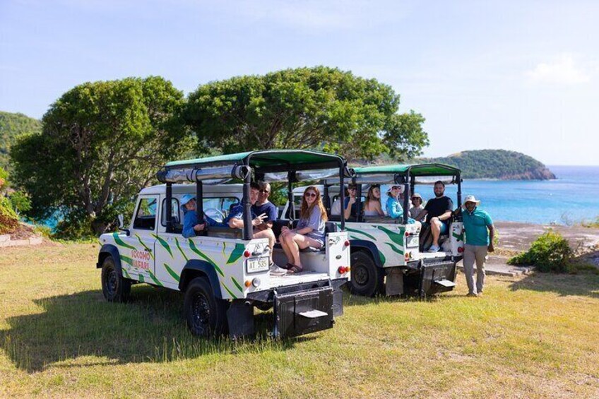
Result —
<path fill-rule="evenodd" d="M 574 58 L 564 54 L 552 63 L 538 64 L 528 71 L 528 77 L 538 83 L 577 84 L 591 80 L 585 71 L 574 63 Z"/>

